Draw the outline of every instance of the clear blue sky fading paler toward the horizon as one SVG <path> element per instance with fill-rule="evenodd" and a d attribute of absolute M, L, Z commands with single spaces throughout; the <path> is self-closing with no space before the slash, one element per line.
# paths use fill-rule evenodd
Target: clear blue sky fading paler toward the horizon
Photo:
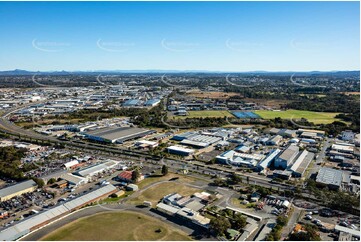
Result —
<path fill-rule="evenodd" d="M 356 2 L 0 2 L 0 70 L 359 70 Z"/>

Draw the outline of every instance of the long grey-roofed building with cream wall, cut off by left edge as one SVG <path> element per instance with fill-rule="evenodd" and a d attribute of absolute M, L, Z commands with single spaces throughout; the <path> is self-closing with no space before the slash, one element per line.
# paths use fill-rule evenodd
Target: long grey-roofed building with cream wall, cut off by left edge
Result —
<path fill-rule="evenodd" d="M 7 201 L 27 192 L 33 192 L 37 187 L 37 184 L 33 180 L 28 180 L 0 189 L 0 202 Z"/>

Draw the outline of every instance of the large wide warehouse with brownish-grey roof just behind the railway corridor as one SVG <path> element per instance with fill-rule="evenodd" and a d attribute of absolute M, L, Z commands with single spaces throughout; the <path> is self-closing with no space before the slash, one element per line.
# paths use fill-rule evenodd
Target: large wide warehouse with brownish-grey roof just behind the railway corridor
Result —
<path fill-rule="evenodd" d="M 127 140 L 144 137 L 154 133 L 153 130 L 133 128 L 133 127 L 106 127 L 84 132 L 85 138 L 106 142 L 122 143 Z"/>

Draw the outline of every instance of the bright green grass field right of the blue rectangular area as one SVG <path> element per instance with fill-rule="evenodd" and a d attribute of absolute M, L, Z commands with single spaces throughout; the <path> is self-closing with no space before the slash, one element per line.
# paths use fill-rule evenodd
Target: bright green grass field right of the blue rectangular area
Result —
<path fill-rule="evenodd" d="M 259 110 L 254 111 L 254 113 L 261 116 L 263 119 L 274 119 L 280 117 L 282 119 L 301 119 L 305 118 L 309 122 L 314 124 L 328 124 L 333 121 L 339 120 L 335 116 L 339 113 L 324 113 L 324 112 L 311 112 L 311 111 L 302 111 L 302 110 L 287 110 L 287 111 L 266 111 Z"/>

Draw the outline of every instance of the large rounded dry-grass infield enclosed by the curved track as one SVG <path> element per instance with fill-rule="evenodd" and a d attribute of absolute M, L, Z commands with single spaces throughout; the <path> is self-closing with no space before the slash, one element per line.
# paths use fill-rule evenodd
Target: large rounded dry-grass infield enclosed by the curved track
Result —
<path fill-rule="evenodd" d="M 135 212 L 107 212 L 78 219 L 41 240 L 191 240 L 183 231 Z"/>

